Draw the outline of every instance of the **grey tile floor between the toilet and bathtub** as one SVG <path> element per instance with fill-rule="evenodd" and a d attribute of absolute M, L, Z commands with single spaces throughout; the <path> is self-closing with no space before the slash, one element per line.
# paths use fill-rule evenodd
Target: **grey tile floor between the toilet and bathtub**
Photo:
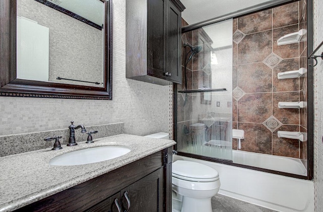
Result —
<path fill-rule="evenodd" d="M 275 212 L 258 205 L 217 194 L 212 197 L 212 212 Z"/>

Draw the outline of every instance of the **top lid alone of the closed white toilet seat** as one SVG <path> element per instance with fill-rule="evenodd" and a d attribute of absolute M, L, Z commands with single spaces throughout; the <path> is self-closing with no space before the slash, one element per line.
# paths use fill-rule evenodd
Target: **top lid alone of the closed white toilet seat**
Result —
<path fill-rule="evenodd" d="M 172 165 L 172 173 L 197 179 L 210 179 L 219 177 L 217 170 L 212 169 L 204 164 L 192 162 L 192 161 L 175 161 Z"/>

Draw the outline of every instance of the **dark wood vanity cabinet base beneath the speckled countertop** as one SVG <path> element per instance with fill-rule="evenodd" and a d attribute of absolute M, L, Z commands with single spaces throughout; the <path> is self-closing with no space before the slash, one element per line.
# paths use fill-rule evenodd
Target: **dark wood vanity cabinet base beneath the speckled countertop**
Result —
<path fill-rule="evenodd" d="M 170 212 L 172 149 L 159 151 L 16 211 Z"/>

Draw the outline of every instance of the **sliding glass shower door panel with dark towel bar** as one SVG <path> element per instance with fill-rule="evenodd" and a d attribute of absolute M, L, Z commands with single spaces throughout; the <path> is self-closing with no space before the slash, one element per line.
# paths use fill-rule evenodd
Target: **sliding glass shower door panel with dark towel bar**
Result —
<path fill-rule="evenodd" d="M 232 19 L 182 40 L 186 82 L 177 87 L 177 151 L 232 161 Z"/>

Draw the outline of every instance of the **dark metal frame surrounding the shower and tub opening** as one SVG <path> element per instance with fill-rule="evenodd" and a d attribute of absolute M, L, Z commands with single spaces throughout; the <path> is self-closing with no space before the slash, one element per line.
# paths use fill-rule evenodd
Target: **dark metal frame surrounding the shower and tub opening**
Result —
<path fill-rule="evenodd" d="M 275 7 L 279 7 L 282 5 L 286 5 L 289 3 L 293 2 L 299 2 L 300 0 L 278 0 L 275 2 L 269 2 L 269 3 L 264 3 L 260 4 L 255 7 L 250 7 L 245 10 L 239 10 L 234 13 L 230 13 L 224 16 L 216 17 L 214 19 L 206 20 L 203 22 L 199 22 L 196 24 L 188 25 L 185 27 L 182 27 L 182 33 L 192 31 L 194 29 L 198 29 L 203 26 L 207 26 L 210 24 L 218 23 L 230 18 L 239 18 L 241 16 L 245 16 L 248 14 L 264 11 L 267 9 L 272 9 Z M 313 51 L 313 1 L 312 0 L 307 0 L 307 55 L 310 55 Z M 241 168 L 247 168 L 247 169 L 252 169 L 256 171 L 262 171 L 262 172 L 267 172 L 267 173 L 272 173 L 272 174 L 278 174 L 278 175 L 283 175 L 283 176 L 288 176 L 288 177 L 294 177 L 294 178 L 299 178 L 299 179 L 305 179 L 305 180 L 313 180 L 313 164 L 314 164 L 314 97 L 313 97 L 313 67 L 309 66 L 307 64 L 307 102 L 310 102 L 311 104 L 307 104 L 307 176 L 302 176 L 302 175 L 297 175 L 297 174 L 291 174 L 287 172 L 280 172 L 280 171 L 275 171 L 275 170 L 270 170 L 270 169 L 263 169 L 263 168 L 258 168 L 258 167 L 253 167 L 253 166 L 247 166 L 247 165 L 242 165 L 242 164 L 236 164 L 234 162 L 230 162 L 228 160 L 221 160 L 221 159 L 216 159 L 216 158 L 211 158 L 211 157 L 206 157 L 206 156 L 199 156 L 199 155 L 194 155 L 194 154 L 189 154 L 189 153 L 184 153 L 184 152 L 176 152 L 177 155 L 179 156 L 184 156 L 184 157 L 189 157 L 189 158 L 195 158 L 195 159 L 200 159 L 204 161 L 210 161 L 210 162 L 215 162 L 215 163 L 220 163 L 220 164 L 226 164 L 230 166 L 236 166 L 236 167 L 241 167 Z M 173 84 L 173 139 L 176 141 L 177 139 L 177 86 Z M 174 146 L 174 149 L 177 150 L 177 146 Z"/>

